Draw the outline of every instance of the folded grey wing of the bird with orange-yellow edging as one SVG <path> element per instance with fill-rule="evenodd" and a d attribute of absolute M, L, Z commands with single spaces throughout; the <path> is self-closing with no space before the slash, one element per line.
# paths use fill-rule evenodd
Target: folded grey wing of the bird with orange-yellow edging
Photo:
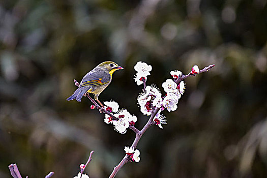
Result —
<path fill-rule="evenodd" d="M 105 75 L 103 72 L 89 72 L 81 80 L 81 86 L 102 86 L 109 82 L 109 74 Z"/>

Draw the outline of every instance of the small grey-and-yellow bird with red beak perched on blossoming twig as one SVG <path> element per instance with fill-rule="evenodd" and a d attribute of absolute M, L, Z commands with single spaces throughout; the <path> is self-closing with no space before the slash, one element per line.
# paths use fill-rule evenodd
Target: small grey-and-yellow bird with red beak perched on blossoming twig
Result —
<path fill-rule="evenodd" d="M 109 85 L 113 72 L 118 69 L 123 69 L 123 67 L 118 66 L 112 61 L 106 61 L 99 64 L 82 78 L 78 89 L 72 96 L 67 98 L 67 101 L 76 99 L 78 102 L 81 102 L 81 98 L 86 96 L 86 93 L 88 92 L 94 94 L 95 100 L 97 100 L 103 107 L 103 104 L 98 100 L 98 96 Z"/>

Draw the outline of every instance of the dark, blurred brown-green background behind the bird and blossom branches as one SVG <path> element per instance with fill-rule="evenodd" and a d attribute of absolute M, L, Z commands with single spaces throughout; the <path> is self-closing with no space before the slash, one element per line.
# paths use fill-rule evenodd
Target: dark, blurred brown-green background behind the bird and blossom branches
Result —
<path fill-rule="evenodd" d="M 171 70 L 187 74 L 178 109 L 164 111 L 137 149 L 141 161 L 116 177 L 267 177 L 266 0 L 0 1 L 0 177 L 17 163 L 23 177 L 108 177 L 135 134 L 122 135 L 91 110 L 67 102 L 73 79 L 103 61 L 125 69 L 100 95 L 138 117 L 138 61 L 152 65 L 147 84 Z"/>

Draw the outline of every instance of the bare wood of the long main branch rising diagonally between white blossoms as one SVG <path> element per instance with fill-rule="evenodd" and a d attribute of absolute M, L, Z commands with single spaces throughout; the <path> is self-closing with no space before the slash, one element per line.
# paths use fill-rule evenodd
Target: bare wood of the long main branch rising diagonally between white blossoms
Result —
<path fill-rule="evenodd" d="M 207 66 L 205 67 L 204 69 L 200 70 L 198 73 L 196 74 L 200 74 L 200 73 L 203 73 L 203 72 L 207 72 L 209 71 L 211 68 L 213 68 L 215 65 L 210 65 L 210 66 Z M 189 76 L 192 76 L 192 75 L 196 75 L 196 74 L 187 74 L 187 75 L 180 75 L 177 79 L 174 80 L 174 82 L 176 83 L 179 83 L 180 81 L 186 79 L 187 77 Z M 145 81 L 143 80 L 144 82 L 144 88 L 145 88 Z M 150 127 L 152 126 L 154 123 L 153 123 L 153 119 L 154 117 L 156 116 L 156 114 L 159 112 L 160 108 L 157 108 L 156 110 L 154 110 L 154 112 L 152 113 L 151 117 L 149 118 L 149 121 L 147 121 L 147 123 L 145 124 L 145 126 L 143 127 L 143 129 L 141 131 L 135 131 L 135 139 L 132 143 L 132 146 L 131 147 L 134 147 L 136 148 L 139 140 L 141 139 L 142 135 L 144 134 L 144 132 Z M 130 128 L 130 127 L 129 127 Z M 111 172 L 109 178 L 113 178 L 115 177 L 115 175 L 117 174 L 117 172 L 126 164 L 129 162 L 129 156 L 126 154 L 124 156 L 124 158 L 122 159 L 122 161 L 114 167 L 113 171 Z"/>

